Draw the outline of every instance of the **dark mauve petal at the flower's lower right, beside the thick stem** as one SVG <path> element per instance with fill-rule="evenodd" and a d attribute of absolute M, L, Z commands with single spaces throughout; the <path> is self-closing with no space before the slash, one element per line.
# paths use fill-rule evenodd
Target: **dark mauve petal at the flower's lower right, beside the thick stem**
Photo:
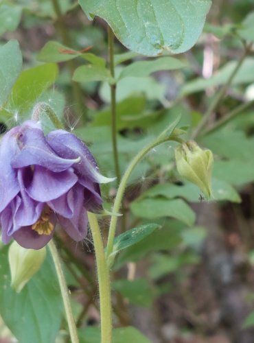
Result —
<path fill-rule="evenodd" d="M 83 206 L 84 194 L 81 187 L 73 188 L 73 196 L 75 199 L 75 207 L 73 217 L 71 219 L 58 215 L 59 224 L 65 229 L 67 234 L 74 239 L 74 241 L 81 241 L 87 233 L 87 212 Z"/>

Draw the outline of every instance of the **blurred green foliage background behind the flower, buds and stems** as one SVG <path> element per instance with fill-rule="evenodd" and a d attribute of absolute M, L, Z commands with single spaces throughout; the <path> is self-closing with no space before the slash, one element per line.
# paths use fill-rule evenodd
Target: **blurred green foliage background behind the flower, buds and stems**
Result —
<path fill-rule="evenodd" d="M 253 9 L 253 0 L 213 0 L 203 34 L 185 54 L 147 58 L 115 40 L 120 173 L 179 114 L 178 127 L 187 128 L 186 138 L 198 132 L 196 141 L 213 151 L 215 164 L 209 202 L 177 174 L 174 143 L 152 150 L 132 174 L 119 233 L 149 222 L 161 228 L 120 252 L 113 266 L 114 342 L 253 343 Z M 1 1 L 0 34 L 1 132 L 30 118 L 36 103 L 47 102 L 67 130 L 91 147 L 102 174 L 115 176 L 106 22 L 89 21 L 76 1 Z M 207 113 L 203 130 L 196 131 Z M 52 130 L 46 116 L 43 127 Z M 116 187 L 102 189 L 108 210 Z M 100 222 L 106 237 L 108 217 Z M 99 342 L 91 239 L 74 246 L 61 233 L 58 245 L 80 341 Z M 43 265 L 34 287 L 29 283 L 16 300 L 6 281 L 6 251 L 1 248 L 0 299 L 12 298 L 18 317 L 24 302 L 26 312 L 33 306 L 41 311 L 30 318 L 23 313 L 25 329 L 39 323 L 50 335 L 34 329 L 28 336 L 24 322 L 17 325 L 1 300 L 5 324 L 19 342 L 54 342 L 56 332 L 57 342 L 68 339 L 65 320 L 53 322 L 31 295 L 37 287 L 59 318 L 50 268 Z M 41 275 L 52 280 L 52 289 L 40 283 Z M 52 308 L 52 299 L 58 306 Z M 13 339 L 3 324 L 0 330 L 1 340 Z"/>

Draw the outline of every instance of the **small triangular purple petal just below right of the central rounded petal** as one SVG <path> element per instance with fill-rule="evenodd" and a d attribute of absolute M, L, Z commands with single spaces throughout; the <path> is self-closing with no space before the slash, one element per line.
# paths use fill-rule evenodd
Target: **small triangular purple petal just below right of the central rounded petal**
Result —
<path fill-rule="evenodd" d="M 47 204 L 53 211 L 62 215 L 62 217 L 73 217 L 75 207 L 73 189 L 70 189 L 68 193 L 63 194 L 59 198 L 47 202 Z"/>

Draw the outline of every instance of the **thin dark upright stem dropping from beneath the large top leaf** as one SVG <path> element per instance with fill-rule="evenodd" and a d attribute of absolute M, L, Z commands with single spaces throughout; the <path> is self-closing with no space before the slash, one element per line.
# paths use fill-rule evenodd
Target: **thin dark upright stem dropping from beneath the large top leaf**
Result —
<path fill-rule="evenodd" d="M 112 78 L 115 78 L 115 64 L 114 64 L 114 34 L 110 26 L 108 26 L 108 58 L 109 69 Z M 116 110 L 116 84 L 110 84 L 111 87 L 111 135 L 113 145 L 113 157 L 115 163 L 115 176 L 117 177 L 117 184 L 121 177 L 119 168 L 119 156 L 117 150 L 117 110 Z"/>

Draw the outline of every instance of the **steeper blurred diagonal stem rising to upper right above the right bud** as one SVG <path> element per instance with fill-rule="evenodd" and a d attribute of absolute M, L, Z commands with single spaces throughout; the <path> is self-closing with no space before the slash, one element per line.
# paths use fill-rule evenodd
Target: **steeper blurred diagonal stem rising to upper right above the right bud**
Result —
<path fill-rule="evenodd" d="M 235 77 L 235 74 L 238 73 L 238 70 L 242 66 L 242 63 L 244 62 L 247 54 L 249 54 L 249 49 L 245 50 L 244 54 L 242 55 L 242 57 L 240 58 L 238 63 L 235 65 L 235 68 L 233 69 L 231 75 L 229 76 L 229 79 L 222 86 L 222 88 L 220 88 L 220 91 L 218 91 L 218 93 L 214 97 L 213 101 L 211 102 L 210 106 L 207 108 L 207 111 L 206 111 L 205 115 L 203 115 L 203 118 L 201 119 L 200 123 L 196 127 L 196 130 L 194 130 L 194 132 L 192 134 L 192 139 L 195 139 L 198 136 L 198 134 L 200 134 L 200 132 L 203 130 L 205 125 L 207 124 L 207 121 L 211 117 L 211 114 L 216 109 L 216 107 L 218 106 L 220 100 L 222 99 L 222 97 L 224 97 L 225 93 L 227 92 L 227 89 L 229 88 L 233 78 Z"/>

